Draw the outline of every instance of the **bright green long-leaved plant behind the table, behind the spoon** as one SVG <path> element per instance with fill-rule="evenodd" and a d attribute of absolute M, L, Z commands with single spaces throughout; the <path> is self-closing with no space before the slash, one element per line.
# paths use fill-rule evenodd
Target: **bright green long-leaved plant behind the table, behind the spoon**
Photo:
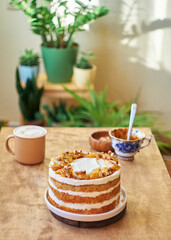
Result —
<path fill-rule="evenodd" d="M 84 107 L 82 115 L 92 123 L 93 127 L 127 127 L 133 101 L 121 104 L 119 101 L 107 101 L 107 88 L 97 93 L 89 87 L 90 100 L 81 98 L 74 91 L 64 89 Z M 152 127 L 156 117 L 148 112 L 136 115 L 134 126 Z M 143 125 L 142 125 L 143 124 Z"/>

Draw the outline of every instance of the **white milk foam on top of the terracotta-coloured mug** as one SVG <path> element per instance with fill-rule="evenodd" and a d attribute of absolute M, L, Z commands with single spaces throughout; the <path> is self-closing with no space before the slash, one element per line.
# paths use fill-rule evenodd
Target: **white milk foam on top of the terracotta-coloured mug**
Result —
<path fill-rule="evenodd" d="M 14 129 L 14 135 L 21 138 L 39 138 L 47 133 L 45 128 L 26 125 Z"/>

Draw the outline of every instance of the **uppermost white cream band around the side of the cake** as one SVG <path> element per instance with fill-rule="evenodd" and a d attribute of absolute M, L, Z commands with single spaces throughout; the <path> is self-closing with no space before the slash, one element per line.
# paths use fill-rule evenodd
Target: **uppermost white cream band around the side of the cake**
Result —
<path fill-rule="evenodd" d="M 66 178 L 61 177 L 61 175 L 56 174 L 55 171 L 52 170 L 52 168 L 49 168 L 49 176 L 53 179 L 55 179 L 58 182 L 66 183 L 70 185 L 80 186 L 80 185 L 99 185 L 99 184 L 106 184 L 110 181 L 115 180 L 120 176 L 120 169 L 113 174 L 104 177 L 104 178 L 97 178 L 97 179 L 90 179 L 90 180 L 78 180 L 73 178 Z"/>

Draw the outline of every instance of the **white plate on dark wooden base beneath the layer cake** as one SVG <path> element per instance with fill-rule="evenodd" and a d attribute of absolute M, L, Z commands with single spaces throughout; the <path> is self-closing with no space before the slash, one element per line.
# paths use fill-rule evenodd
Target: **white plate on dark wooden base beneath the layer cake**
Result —
<path fill-rule="evenodd" d="M 117 207 L 114 210 L 106 213 L 92 214 L 92 215 L 70 213 L 54 207 L 47 199 L 47 191 L 48 191 L 48 188 L 45 191 L 44 198 L 45 198 L 46 205 L 51 211 L 52 215 L 59 221 L 75 227 L 82 227 L 82 228 L 103 227 L 120 220 L 124 216 L 126 211 L 127 194 L 125 189 L 122 186 L 121 186 L 120 203 L 117 205 Z"/>

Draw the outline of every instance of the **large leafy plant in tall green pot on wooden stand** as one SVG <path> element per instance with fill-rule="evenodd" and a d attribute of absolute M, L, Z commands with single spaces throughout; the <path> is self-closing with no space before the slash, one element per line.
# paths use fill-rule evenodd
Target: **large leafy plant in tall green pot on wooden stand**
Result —
<path fill-rule="evenodd" d="M 78 0 L 9 1 L 29 17 L 32 31 L 41 36 L 48 81 L 71 81 L 78 52 L 78 44 L 74 43 L 76 33 L 84 31 L 86 24 L 105 16 L 109 10 L 93 6 L 91 0 L 87 5 Z"/>

